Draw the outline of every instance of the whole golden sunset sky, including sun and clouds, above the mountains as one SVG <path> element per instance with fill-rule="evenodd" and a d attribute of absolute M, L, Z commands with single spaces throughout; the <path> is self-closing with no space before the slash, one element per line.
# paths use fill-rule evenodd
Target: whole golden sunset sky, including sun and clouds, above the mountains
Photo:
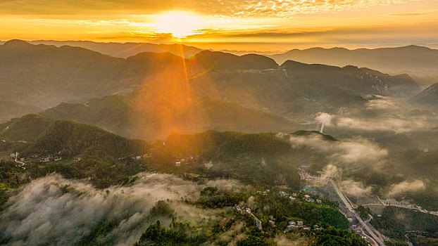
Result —
<path fill-rule="evenodd" d="M 0 40 L 438 48 L 438 0 L 0 0 Z"/>

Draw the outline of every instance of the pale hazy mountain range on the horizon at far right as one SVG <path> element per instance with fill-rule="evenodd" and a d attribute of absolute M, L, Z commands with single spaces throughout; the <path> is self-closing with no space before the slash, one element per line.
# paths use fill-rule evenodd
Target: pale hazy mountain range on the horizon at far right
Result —
<path fill-rule="evenodd" d="M 369 67 L 393 75 L 408 73 L 415 76 L 438 77 L 438 50 L 423 46 L 396 48 L 308 48 L 293 49 L 271 55 L 277 63 L 296 60 L 301 63 L 321 63 L 335 66 Z"/>

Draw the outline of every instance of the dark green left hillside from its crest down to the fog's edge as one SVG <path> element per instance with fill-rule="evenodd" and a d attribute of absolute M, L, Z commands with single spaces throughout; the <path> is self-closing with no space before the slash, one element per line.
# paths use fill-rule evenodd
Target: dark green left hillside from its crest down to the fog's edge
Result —
<path fill-rule="evenodd" d="M 30 143 L 0 142 L 1 151 L 18 151 L 26 162 L 23 169 L 11 160 L 1 160 L 0 175 L 4 177 L 6 189 L 18 188 L 31 179 L 53 172 L 67 179 L 88 178 L 97 188 L 106 188 L 126 183 L 130 176 L 146 170 L 144 162 L 130 158 L 148 152 L 151 144 L 145 141 L 123 138 L 87 124 L 38 115 L 26 115 L 8 124 L 12 137 L 27 136 Z M 50 157 L 49 162 L 43 162 L 44 157 Z M 55 157 L 61 160 L 54 160 Z M 3 195 L 11 194 L 0 194 L 0 198 Z"/>

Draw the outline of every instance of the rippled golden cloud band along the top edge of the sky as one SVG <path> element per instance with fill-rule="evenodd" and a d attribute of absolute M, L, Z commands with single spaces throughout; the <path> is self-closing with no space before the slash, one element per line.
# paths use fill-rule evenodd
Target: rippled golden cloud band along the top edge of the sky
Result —
<path fill-rule="evenodd" d="M 288 18 L 301 13 L 343 11 L 352 8 L 370 8 L 390 4 L 403 4 L 414 0 L 170 0 L 160 4 L 154 0 L 42 0 L 42 1 L 0 1 L 0 10 L 7 14 L 149 14 L 178 9 L 194 11 L 204 15 L 252 18 Z M 1 13 L 0 12 L 0 13 Z"/>

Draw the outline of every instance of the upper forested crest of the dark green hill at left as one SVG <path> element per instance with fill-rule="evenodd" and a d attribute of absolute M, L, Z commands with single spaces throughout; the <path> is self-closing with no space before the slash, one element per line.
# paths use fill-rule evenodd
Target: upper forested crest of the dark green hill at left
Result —
<path fill-rule="evenodd" d="M 0 138 L 28 143 L 22 146 L 23 157 L 54 153 L 64 157 L 84 153 L 125 157 L 146 151 L 146 142 L 123 138 L 92 125 L 39 115 L 25 115 L 1 124 Z"/>

